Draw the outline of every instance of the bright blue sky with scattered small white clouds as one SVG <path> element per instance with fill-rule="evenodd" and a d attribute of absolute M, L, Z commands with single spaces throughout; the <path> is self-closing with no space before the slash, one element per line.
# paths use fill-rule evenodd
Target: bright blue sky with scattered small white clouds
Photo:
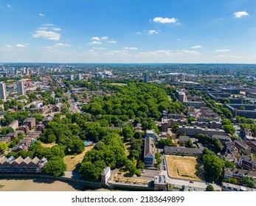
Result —
<path fill-rule="evenodd" d="M 0 0 L 0 62 L 256 63 L 256 0 Z"/>

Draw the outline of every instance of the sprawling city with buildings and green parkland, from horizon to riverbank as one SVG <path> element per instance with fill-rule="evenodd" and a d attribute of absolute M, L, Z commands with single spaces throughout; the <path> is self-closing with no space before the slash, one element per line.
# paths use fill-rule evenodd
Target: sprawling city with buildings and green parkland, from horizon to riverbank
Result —
<path fill-rule="evenodd" d="M 255 191 L 256 65 L 4 63 L 0 129 L 0 179 Z"/>

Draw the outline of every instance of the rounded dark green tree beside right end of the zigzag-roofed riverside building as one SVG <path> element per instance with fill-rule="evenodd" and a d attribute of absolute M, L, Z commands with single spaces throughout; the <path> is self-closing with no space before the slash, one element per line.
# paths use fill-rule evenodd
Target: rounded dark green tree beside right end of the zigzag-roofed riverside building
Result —
<path fill-rule="evenodd" d="M 62 158 L 53 157 L 46 163 L 44 171 L 46 172 L 46 174 L 58 177 L 60 175 L 63 175 L 66 171 L 66 164 L 64 163 Z"/>

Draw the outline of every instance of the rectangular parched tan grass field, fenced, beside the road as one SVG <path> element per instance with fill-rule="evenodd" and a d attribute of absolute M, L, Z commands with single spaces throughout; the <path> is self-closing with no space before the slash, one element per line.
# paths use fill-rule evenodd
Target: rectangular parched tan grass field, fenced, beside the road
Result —
<path fill-rule="evenodd" d="M 203 180 L 203 166 L 197 157 L 165 155 L 170 177 L 185 180 Z"/>

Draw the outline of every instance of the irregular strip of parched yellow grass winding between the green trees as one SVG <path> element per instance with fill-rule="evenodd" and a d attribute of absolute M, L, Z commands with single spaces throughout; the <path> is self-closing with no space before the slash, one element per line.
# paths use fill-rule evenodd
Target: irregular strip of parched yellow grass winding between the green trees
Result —
<path fill-rule="evenodd" d="M 73 171 L 75 170 L 77 164 L 82 163 L 83 157 L 86 154 L 86 152 L 90 151 L 94 145 L 86 146 L 86 149 L 81 154 L 77 154 L 77 156 L 74 155 L 66 155 L 63 160 L 64 163 L 66 163 L 66 170 L 67 171 Z"/>

